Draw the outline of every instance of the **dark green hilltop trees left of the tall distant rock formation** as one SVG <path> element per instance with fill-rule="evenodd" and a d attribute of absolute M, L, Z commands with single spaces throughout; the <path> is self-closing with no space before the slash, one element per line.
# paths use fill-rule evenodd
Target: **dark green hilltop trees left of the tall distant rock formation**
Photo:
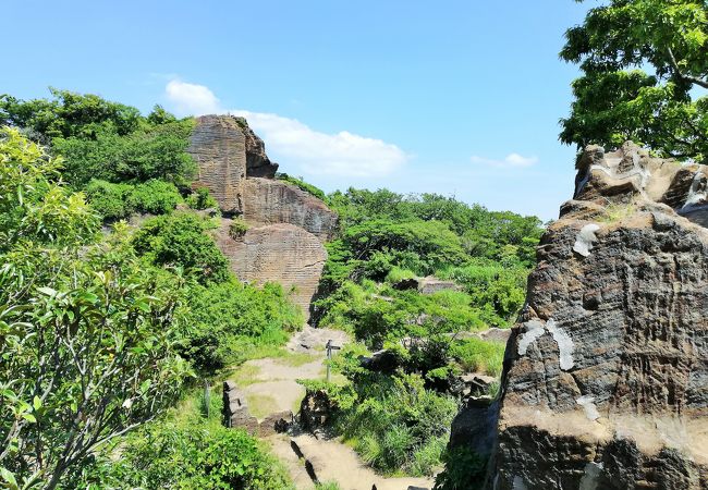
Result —
<path fill-rule="evenodd" d="M 176 120 L 159 106 L 147 118 L 133 107 L 95 95 L 50 89 L 52 99 L 0 97 L 0 123 L 30 130 L 65 158 L 63 177 L 74 188 L 93 179 L 176 184 L 196 166 L 185 152 L 194 120 Z M 4 122 L 3 122 L 4 121 Z"/>

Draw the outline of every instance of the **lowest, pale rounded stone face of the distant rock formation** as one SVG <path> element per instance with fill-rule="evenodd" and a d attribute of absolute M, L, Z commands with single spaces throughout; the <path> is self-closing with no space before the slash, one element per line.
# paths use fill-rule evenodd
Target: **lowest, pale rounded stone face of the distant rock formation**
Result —
<path fill-rule="evenodd" d="M 252 228 L 241 238 L 229 236 L 230 220 L 222 220 L 217 245 L 242 281 L 257 285 L 278 282 L 305 316 L 317 291 L 327 250 L 317 236 L 293 224 Z"/>

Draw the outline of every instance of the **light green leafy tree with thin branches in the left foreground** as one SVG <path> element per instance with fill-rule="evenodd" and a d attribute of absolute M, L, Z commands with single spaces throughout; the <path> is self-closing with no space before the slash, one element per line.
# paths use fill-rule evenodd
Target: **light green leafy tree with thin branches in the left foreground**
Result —
<path fill-rule="evenodd" d="M 172 274 L 124 230 L 97 243 L 59 161 L 0 133 L 0 486 L 69 483 L 97 449 L 156 417 L 188 375 L 174 354 Z"/>

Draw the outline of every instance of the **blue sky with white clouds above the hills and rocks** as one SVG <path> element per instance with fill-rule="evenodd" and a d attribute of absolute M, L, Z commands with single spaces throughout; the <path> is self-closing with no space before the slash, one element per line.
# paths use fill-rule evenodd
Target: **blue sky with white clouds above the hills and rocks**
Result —
<path fill-rule="evenodd" d="M 281 170 L 557 217 L 577 70 L 564 30 L 594 1 L 5 0 L 0 93 L 99 94 L 249 119 Z M 9 69 L 8 69 L 9 68 Z"/>

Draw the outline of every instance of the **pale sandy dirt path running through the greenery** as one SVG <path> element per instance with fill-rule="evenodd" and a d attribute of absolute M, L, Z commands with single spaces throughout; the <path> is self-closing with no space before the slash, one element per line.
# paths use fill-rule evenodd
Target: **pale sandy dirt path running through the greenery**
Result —
<path fill-rule="evenodd" d="M 297 379 L 324 379 L 325 345 L 332 340 L 335 345 L 349 342 L 344 332 L 305 327 L 295 333 L 286 346 L 286 355 L 245 363 L 234 376 L 243 389 L 252 415 L 264 419 L 270 414 L 300 408 L 305 389 Z M 315 488 L 305 469 L 320 481 L 337 481 L 342 490 L 406 490 L 410 486 L 432 488 L 427 478 L 384 478 L 377 475 L 358 458 L 357 454 L 338 440 L 319 440 L 309 434 L 277 434 L 267 439 L 276 454 L 288 468 L 298 490 Z M 300 454 L 298 454 L 300 453 Z M 301 457 L 304 456 L 304 457 Z"/>

